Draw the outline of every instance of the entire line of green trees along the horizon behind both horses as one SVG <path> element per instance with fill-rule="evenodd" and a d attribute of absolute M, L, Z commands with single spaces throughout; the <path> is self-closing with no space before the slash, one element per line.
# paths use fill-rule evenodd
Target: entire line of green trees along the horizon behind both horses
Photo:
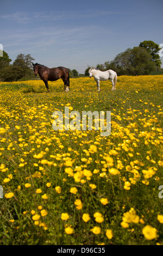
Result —
<path fill-rule="evenodd" d="M 138 47 L 128 48 L 126 51 L 117 54 L 114 60 L 106 61 L 104 64 L 97 64 L 98 70 L 105 71 L 112 69 L 121 75 L 149 75 L 152 71 L 161 71 L 161 60 L 158 54 L 161 48 L 153 41 L 140 42 Z M 35 59 L 30 55 L 18 54 L 13 64 L 8 53 L 3 51 L 0 57 L 0 81 L 18 81 L 34 79 L 33 61 Z M 88 76 L 88 67 L 84 75 Z M 82 76 L 76 69 L 68 69 L 70 77 Z"/>

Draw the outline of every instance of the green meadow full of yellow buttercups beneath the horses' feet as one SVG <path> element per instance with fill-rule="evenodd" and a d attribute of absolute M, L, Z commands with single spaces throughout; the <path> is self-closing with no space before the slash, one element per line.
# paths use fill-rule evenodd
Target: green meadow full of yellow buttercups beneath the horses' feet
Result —
<path fill-rule="evenodd" d="M 163 245 L 163 76 L 49 88 L 0 83 L 0 244 Z M 111 111 L 110 136 L 54 131 L 65 106 Z"/>

